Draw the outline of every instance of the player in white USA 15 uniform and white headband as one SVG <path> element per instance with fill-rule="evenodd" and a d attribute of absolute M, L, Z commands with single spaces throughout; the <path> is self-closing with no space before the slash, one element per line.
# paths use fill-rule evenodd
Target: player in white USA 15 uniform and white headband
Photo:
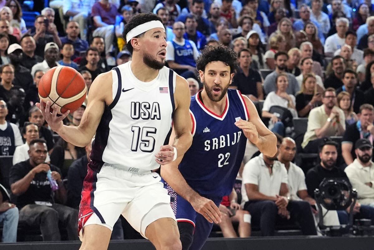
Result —
<path fill-rule="evenodd" d="M 38 107 L 53 131 L 74 145 L 85 146 L 96 132 L 80 203 L 80 249 L 107 249 L 122 214 L 156 249 L 180 250 L 170 196 L 152 170 L 182 156 L 191 145 L 188 84 L 164 67 L 166 34 L 158 16 L 134 16 L 123 37 L 132 61 L 93 81 L 79 126 L 63 125 L 68 112 L 56 116 L 50 101 Z M 53 113 L 48 112 L 51 106 Z M 171 122 L 177 137 L 168 146 Z M 219 210 L 208 199 L 196 199 L 195 206 L 220 221 Z"/>

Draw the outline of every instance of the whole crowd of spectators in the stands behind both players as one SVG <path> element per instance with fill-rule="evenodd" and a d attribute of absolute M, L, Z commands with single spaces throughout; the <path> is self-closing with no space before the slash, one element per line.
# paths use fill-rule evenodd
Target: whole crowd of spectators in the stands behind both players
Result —
<path fill-rule="evenodd" d="M 62 223 L 67 239 L 77 238 L 90 145 L 76 147 L 53 135 L 35 107 L 37 88 L 47 70 L 63 65 L 78 70 L 89 90 L 98 74 L 131 60 L 122 32 L 144 12 L 161 18 L 166 65 L 187 79 L 191 96 L 203 86 L 196 71 L 200 51 L 233 49 L 239 67 L 230 88 L 255 102 L 278 136 L 277 156 L 243 162 L 241 187 L 220 206 L 225 237 L 236 236 L 232 221 L 239 222 L 240 237 L 251 234 L 251 225 L 274 235 L 278 223 L 289 222 L 298 222 L 305 235 L 317 234 L 313 190 L 322 177 L 349 178 L 358 190 L 355 216 L 374 217 L 371 1 L 50 0 L 44 8 L 27 2 L 0 2 L 0 147 L 2 159 L 12 162 L 2 161 L 0 172 L 3 242 L 16 241 L 17 223 L 39 227 L 45 241 L 61 239 Z M 22 18 L 25 10 L 40 12 L 33 25 Z M 65 124 L 79 125 L 85 105 Z M 291 138 L 293 118 L 309 118 L 300 150 L 321 160 L 309 171 L 292 163 L 299 146 Z M 342 137 L 341 144 L 327 137 Z M 337 211 L 324 220 L 338 225 L 347 218 L 347 211 Z M 123 238 L 120 220 L 112 238 Z"/>

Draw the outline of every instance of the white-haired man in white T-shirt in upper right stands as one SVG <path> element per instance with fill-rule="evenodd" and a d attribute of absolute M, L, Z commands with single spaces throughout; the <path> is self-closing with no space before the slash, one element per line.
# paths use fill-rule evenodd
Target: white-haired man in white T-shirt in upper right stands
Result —
<path fill-rule="evenodd" d="M 334 52 L 340 49 L 346 43 L 346 32 L 349 27 L 349 20 L 345 17 L 336 19 L 336 33 L 327 37 L 325 41 L 325 56 L 332 57 Z"/>

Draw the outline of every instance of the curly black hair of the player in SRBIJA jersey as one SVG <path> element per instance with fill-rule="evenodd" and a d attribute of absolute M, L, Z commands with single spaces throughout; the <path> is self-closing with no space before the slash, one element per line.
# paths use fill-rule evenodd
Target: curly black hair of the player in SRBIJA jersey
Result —
<path fill-rule="evenodd" d="M 205 71 L 206 64 L 213 61 L 221 61 L 230 66 L 230 74 L 234 73 L 236 68 L 239 67 L 236 53 L 232 49 L 220 45 L 218 47 L 205 47 L 196 60 L 196 68 L 198 71 Z"/>

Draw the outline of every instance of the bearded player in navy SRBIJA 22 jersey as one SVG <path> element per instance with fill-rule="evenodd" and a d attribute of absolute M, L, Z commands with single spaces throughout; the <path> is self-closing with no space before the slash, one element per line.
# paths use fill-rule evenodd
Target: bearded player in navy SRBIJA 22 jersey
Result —
<path fill-rule="evenodd" d="M 203 50 L 196 67 L 204 88 L 191 97 L 190 105 L 192 145 L 171 166 L 161 168 L 175 200 L 172 208 L 183 250 L 199 250 L 208 238 L 214 220 L 208 208 L 218 207 L 222 197 L 231 193 L 246 140 L 265 155 L 277 152 L 276 137 L 263 124 L 254 104 L 239 91 L 228 89 L 236 59 L 236 54 L 223 46 Z M 197 214 L 199 208 L 194 205 L 201 196 L 209 199 L 205 214 Z"/>

